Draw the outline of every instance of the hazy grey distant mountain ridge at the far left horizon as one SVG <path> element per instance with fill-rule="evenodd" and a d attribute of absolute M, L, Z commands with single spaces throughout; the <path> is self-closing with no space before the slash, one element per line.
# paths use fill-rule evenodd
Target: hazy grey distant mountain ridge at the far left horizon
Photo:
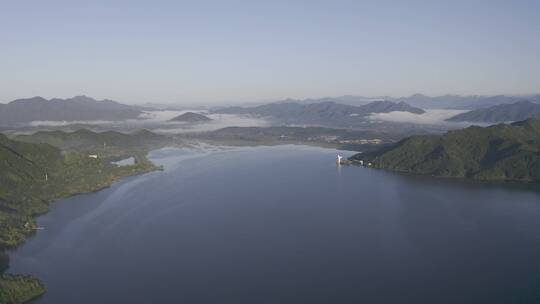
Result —
<path fill-rule="evenodd" d="M 141 113 L 137 106 L 112 100 L 95 100 L 87 96 L 47 100 L 37 96 L 0 104 L 0 125 L 32 121 L 125 120 L 135 119 Z"/>

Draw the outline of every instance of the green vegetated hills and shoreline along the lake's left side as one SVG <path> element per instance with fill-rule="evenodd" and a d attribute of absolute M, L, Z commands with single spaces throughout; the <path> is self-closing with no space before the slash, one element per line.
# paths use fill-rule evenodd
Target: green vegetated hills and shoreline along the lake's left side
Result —
<path fill-rule="evenodd" d="M 0 273 L 9 267 L 9 257 L 2 251 L 35 233 L 34 218 L 47 212 L 51 202 L 161 169 L 146 154 L 168 143 L 168 138 L 148 131 L 39 132 L 16 139 L 0 134 Z M 111 162 L 127 156 L 135 158 L 134 164 Z M 36 278 L 0 275 L 0 303 L 23 303 L 43 292 L 45 287 Z"/>

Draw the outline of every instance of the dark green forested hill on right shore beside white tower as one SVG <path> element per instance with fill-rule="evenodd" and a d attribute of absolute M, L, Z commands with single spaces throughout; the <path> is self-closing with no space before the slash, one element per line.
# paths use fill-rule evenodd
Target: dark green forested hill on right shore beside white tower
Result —
<path fill-rule="evenodd" d="M 356 154 L 353 162 L 391 171 L 480 180 L 540 181 L 540 121 L 530 118 L 444 135 L 408 137 Z"/>

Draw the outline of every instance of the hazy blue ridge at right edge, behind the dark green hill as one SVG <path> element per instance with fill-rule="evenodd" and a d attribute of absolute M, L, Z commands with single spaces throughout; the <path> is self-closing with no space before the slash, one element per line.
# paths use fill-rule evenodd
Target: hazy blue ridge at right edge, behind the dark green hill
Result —
<path fill-rule="evenodd" d="M 473 110 L 456 115 L 447 120 L 467 122 L 506 122 L 525 120 L 531 117 L 540 119 L 540 104 L 524 100 L 512 104 L 502 104 L 485 109 Z"/>

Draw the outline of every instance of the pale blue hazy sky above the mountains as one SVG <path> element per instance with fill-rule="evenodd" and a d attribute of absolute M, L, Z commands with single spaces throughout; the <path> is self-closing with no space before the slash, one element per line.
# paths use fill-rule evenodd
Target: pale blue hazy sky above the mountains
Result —
<path fill-rule="evenodd" d="M 540 92 L 540 1 L 0 0 L 0 101 Z"/>

